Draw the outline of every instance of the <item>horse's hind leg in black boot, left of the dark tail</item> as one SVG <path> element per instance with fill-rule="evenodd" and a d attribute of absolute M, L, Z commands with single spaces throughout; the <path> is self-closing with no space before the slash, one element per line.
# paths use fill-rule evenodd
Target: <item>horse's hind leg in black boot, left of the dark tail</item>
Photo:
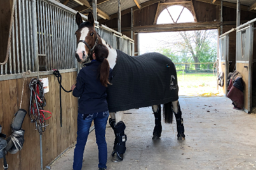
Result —
<path fill-rule="evenodd" d="M 152 110 L 154 112 L 154 131 L 152 139 L 159 139 L 162 133 L 162 124 L 161 124 L 161 105 L 153 105 Z"/>

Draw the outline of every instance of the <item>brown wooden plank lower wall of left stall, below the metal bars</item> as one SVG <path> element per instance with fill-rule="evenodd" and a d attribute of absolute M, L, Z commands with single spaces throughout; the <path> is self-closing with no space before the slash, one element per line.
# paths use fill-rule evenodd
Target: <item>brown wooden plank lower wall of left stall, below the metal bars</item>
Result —
<path fill-rule="evenodd" d="M 69 90 L 76 82 L 77 72 L 62 73 L 62 86 Z M 43 133 L 43 166 L 45 167 L 53 161 L 59 154 L 64 152 L 72 143 L 76 142 L 77 130 L 77 98 L 72 93 L 65 93 L 62 90 L 62 127 L 60 127 L 60 97 L 59 83 L 54 75 L 48 77 L 49 92 L 45 94 L 46 109 L 52 113 L 48 119 L 46 131 Z M 30 123 L 29 118 L 29 82 L 31 78 L 25 80 L 24 95 L 22 99 L 22 109 L 27 111 L 22 129 L 25 130 L 25 142 L 23 149 L 17 154 L 6 155 L 10 170 L 41 169 L 40 163 L 40 140 L 39 133 L 34 123 Z M 6 136 L 11 135 L 11 121 L 15 112 L 20 107 L 23 79 L 0 81 L 0 124 L 3 126 L 2 132 Z M 46 115 L 48 116 L 48 115 Z M 3 161 L 0 161 L 3 167 Z"/>

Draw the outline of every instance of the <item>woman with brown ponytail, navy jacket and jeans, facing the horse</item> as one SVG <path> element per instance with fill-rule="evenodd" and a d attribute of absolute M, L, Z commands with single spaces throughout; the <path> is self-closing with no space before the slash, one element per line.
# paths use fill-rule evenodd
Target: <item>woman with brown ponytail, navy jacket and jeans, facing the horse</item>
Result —
<path fill-rule="evenodd" d="M 107 85 L 111 68 L 107 56 L 109 51 L 102 44 L 95 46 L 93 60 L 85 64 L 77 75 L 76 85 L 72 85 L 73 95 L 79 98 L 77 117 L 77 142 L 74 150 L 73 169 L 81 169 L 83 164 L 84 147 L 89 135 L 91 122 L 94 121 L 96 142 L 98 145 L 98 169 L 106 169 L 107 143 L 105 129 L 109 111 L 107 106 Z"/>

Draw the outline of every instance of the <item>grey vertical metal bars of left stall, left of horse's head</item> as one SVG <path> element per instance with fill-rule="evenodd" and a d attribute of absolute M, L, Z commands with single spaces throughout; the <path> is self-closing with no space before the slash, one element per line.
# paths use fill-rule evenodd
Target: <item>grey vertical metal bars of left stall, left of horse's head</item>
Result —
<path fill-rule="evenodd" d="M 27 70 L 32 72 L 29 77 L 37 76 L 37 66 L 40 75 L 51 75 L 53 68 L 61 73 L 77 71 L 75 15 L 76 11 L 57 1 L 17 0 L 9 59 L 0 67 L 0 80 L 22 78 Z"/>

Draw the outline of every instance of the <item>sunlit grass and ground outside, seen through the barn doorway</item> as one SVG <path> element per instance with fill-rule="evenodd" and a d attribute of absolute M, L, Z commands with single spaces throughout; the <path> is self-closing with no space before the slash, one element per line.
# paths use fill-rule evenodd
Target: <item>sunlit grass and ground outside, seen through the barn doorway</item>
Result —
<path fill-rule="evenodd" d="M 177 71 L 179 96 L 222 96 L 217 90 L 217 76 L 213 73 L 185 73 Z"/>

